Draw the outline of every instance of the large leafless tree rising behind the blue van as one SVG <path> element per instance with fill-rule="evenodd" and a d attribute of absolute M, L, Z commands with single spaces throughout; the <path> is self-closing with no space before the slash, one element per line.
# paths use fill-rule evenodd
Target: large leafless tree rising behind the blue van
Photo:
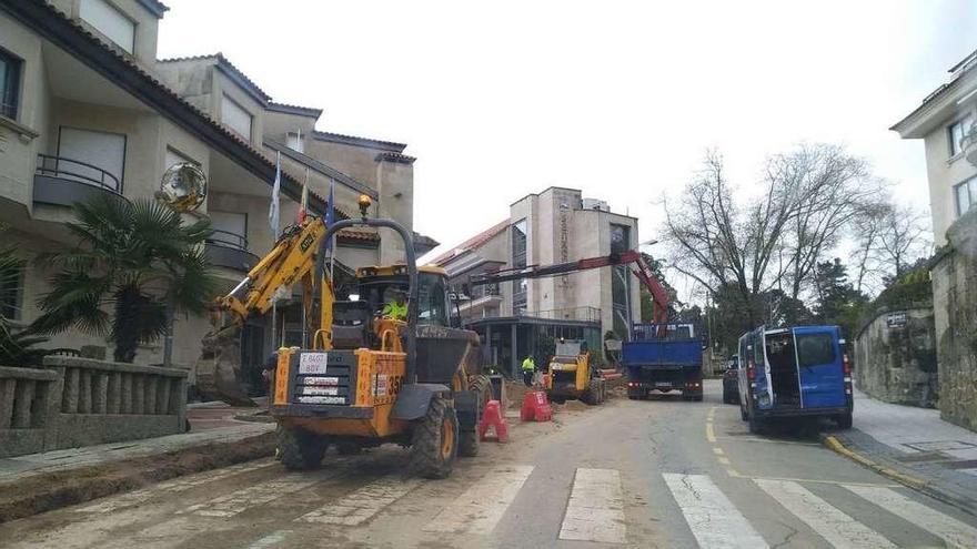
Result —
<path fill-rule="evenodd" d="M 798 299 L 817 262 L 880 186 L 864 160 L 835 145 L 772 156 L 763 175 L 763 194 L 739 207 L 722 156 L 709 151 L 678 204 L 665 204 L 672 265 L 714 296 L 735 287 L 752 325 L 764 316 L 759 294 L 786 282 L 786 295 Z"/>

